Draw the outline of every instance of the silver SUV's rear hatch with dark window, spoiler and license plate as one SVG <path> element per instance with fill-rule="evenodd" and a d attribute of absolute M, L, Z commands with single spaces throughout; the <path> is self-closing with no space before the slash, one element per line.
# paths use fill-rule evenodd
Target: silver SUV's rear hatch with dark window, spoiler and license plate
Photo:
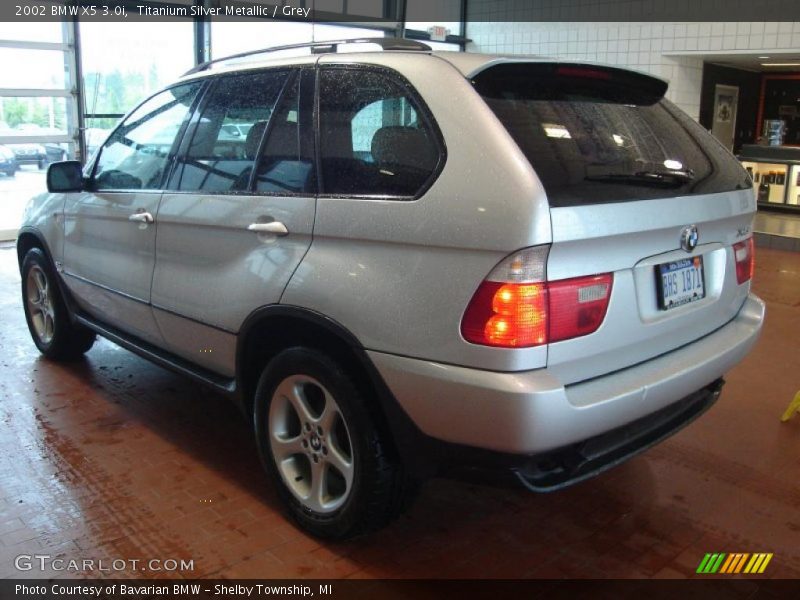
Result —
<path fill-rule="evenodd" d="M 599 329 L 548 347 L 548 369 L 562 382 L 670 352 L 736 315 L 749 281 L 739 283 L 734 245 L 751 236 L 752 184 L 733 155 L 663 99 L 665 82 L 520 61 L 471 79 L 547 193 L 547 279 L 613 274 Z"/>

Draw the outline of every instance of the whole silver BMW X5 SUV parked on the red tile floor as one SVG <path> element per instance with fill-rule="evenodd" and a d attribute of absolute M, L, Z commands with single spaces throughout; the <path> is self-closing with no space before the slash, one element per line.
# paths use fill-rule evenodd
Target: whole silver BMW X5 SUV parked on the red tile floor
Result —
<path fill-rule="evenodd" d="M 443 467 L 559 489 L 717 399 L 755 200 L 665 82 L 344 43 L 202 65 L 51 165 L 17 246 L 46 356 L 99 334 L 230 395 L 330 538 Z"/>

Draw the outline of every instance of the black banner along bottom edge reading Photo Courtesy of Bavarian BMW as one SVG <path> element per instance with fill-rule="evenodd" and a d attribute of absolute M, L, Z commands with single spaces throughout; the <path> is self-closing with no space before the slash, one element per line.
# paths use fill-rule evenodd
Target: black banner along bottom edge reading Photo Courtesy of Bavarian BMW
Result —
<path fill-rule="evenodd" d="M 760 577 L 693 580 L 4 580 L 0 598 L 35 600 L 350 598 L 797 598 L 800 582 Z"/>

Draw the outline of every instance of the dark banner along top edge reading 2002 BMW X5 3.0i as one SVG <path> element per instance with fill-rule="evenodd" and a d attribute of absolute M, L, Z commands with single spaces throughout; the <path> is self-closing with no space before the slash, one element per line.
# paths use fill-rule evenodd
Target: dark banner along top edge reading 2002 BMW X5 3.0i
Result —
<path fill-rule="evenodd" d="M 397 0 L 400 2 L 401 0 Z M 461 0 L 402 0 L 414 21 L 453 22 Z M 374 3 L 374 6 L 372 6 Z M 344 6 L 349 6 L 345 3 Z M 356 6 L 354 4 L 354 6 Z M 0 21 L 219 21 L 294 20 L 315 23 L 371 23 L 390 26 L 398 16 L 392 2 L 357 4 L 363 14 L 315 10 L 313 0 L 216 0 L 191 2 L 146 0 L 4 0 Z M 413 8 L 413 10 L 411 10 Z M 798 0 L 466 0 L 467 22 L 735 22 L 798 21 Z"/>

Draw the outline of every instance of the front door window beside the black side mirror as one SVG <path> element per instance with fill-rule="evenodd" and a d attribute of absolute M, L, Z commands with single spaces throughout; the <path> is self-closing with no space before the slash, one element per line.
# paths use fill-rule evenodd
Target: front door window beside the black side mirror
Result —
<path fill-rule="evenodd" d="M 170 88 L 128 116 L 100 149 L 94 188 L 160 188 L 175 138 L 201 85 L 194 82 Z"/>

